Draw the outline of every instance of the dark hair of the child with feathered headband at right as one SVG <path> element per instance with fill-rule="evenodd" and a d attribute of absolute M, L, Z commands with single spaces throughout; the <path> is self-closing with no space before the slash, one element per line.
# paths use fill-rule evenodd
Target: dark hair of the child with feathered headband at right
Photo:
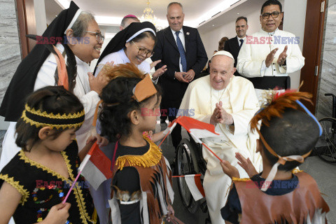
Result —
<path fill-rule="evenodd" d="M 296 109 L 287 108 L 282 117 L 273 117 L 269 120 L 269 126 L 262 125 L 260 133 L 273 151 L 283 156 L 304 155 L 311 151 L 319 137 L 319 128 L 316 122 L 307 113 Z M 262 141 L 260 141 L 262 144 Z M 267 151 L 262 144 L 270 165 L 278 162 L 279 158 Z M 288 161 L 285 165 L 279 165 L 279 170 L 290 171 L 300 166 L 297 161 Z"/>

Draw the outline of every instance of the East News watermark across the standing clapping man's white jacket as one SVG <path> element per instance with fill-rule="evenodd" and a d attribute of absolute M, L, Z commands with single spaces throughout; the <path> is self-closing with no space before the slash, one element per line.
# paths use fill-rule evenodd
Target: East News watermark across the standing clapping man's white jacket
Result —
<path fill-rule="evenodd" d="M 299 44 L 300 36 L 246 36 L 246 44 Z"/>

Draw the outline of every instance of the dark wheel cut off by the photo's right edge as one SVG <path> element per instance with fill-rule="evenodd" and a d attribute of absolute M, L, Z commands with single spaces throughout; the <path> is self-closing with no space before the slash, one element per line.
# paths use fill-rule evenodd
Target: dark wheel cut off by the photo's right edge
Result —
<path fill-rule="evenodd" d="M 325 162 L 336 162 L 336 119 L 319 120 L 323 133 L 315 146 L 315 152 Z"/>

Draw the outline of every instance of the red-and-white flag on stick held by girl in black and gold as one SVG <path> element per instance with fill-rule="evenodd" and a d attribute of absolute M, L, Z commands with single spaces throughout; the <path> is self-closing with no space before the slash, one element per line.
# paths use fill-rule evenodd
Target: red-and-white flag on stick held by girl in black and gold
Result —
<path fill-rule="evenodd" d="M 95 142 L 89 153 L 85 155 L 78 172 L 81 172 L 85 180 L 97 190 L 104 181 L 112 178 L 111 164 L 111 160 L 106 157 Z"/>

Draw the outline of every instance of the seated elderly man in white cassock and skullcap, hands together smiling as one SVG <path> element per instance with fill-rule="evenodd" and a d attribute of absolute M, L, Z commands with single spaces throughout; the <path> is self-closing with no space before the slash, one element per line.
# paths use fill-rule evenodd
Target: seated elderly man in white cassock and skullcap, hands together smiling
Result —
<path fill-rule="evenodd" d="M 202 141 L 219 158 L 237 167 L 241 178 L 247 178 L 244 169 L 237 165 L 235 153 L 250 158 L 258 170 L 261 158 L 255 153 L 255 135 L 249 132 L 248 123 L 258 111 L 259 104 L 252 83 L 233 75 L 236 70 L 234 62 L 230 52 L 216 52 L 211 59 L 210 75 L 190 83 L 180 109 L 194 109 L 193 118 L 216 126 L 216 132 L 224 137 Z M 231 179 L 223 173 L 220 162 L 207 148 L 203 148 L 202 153 L 207 162 L 203 186 L 211 222 L 225 223 L 221 208 L 225 206 Z"/>

